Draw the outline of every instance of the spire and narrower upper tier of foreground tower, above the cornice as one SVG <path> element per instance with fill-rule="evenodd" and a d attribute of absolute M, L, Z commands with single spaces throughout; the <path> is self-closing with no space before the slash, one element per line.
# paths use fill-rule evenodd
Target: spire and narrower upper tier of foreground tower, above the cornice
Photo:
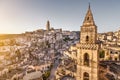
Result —
<path fill-rule="evenodd" d="M 96 43 L 96 39 L 97 26 L 95 25 L 89 4 L 87 14 L 81 26 L 80 43 Z"/>

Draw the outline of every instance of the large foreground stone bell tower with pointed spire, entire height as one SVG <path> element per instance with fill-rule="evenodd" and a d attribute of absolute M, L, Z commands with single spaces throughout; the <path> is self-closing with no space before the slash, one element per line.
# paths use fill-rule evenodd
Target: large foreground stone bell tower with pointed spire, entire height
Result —
<path fill-rule="evenodd" d="M 77 46 L 76 80 L 99 80 L 99 45 L 90 4 L 81 26 L 80 43 Z"/>

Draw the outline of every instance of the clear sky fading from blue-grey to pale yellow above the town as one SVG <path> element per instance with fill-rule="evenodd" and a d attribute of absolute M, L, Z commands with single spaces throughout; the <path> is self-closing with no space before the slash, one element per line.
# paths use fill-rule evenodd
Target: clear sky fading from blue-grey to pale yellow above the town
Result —
<path fill-rule="evenodd" d="M 91 4 L 98 32 L 120 29 L 120 0 L 0 0 L 0 33 L 45 29 L 79 31 Z"/>

